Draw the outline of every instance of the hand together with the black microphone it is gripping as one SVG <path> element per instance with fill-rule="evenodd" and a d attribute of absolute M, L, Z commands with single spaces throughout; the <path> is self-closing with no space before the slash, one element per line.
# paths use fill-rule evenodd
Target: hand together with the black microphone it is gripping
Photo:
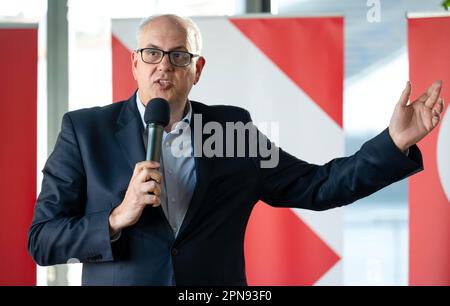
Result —
<path fill-rule="evenodd" d="M 148 132 L 146 160 L 136 164 L 125 198 L 109 216 L 110 235 L 135 224 L 147 205 L 161 205 L 162 175 L 158 171 L 164 128 L 170 121 L 170 108 L 166 100 L 155 98 L 145 108 L 144 121 Z"/>

